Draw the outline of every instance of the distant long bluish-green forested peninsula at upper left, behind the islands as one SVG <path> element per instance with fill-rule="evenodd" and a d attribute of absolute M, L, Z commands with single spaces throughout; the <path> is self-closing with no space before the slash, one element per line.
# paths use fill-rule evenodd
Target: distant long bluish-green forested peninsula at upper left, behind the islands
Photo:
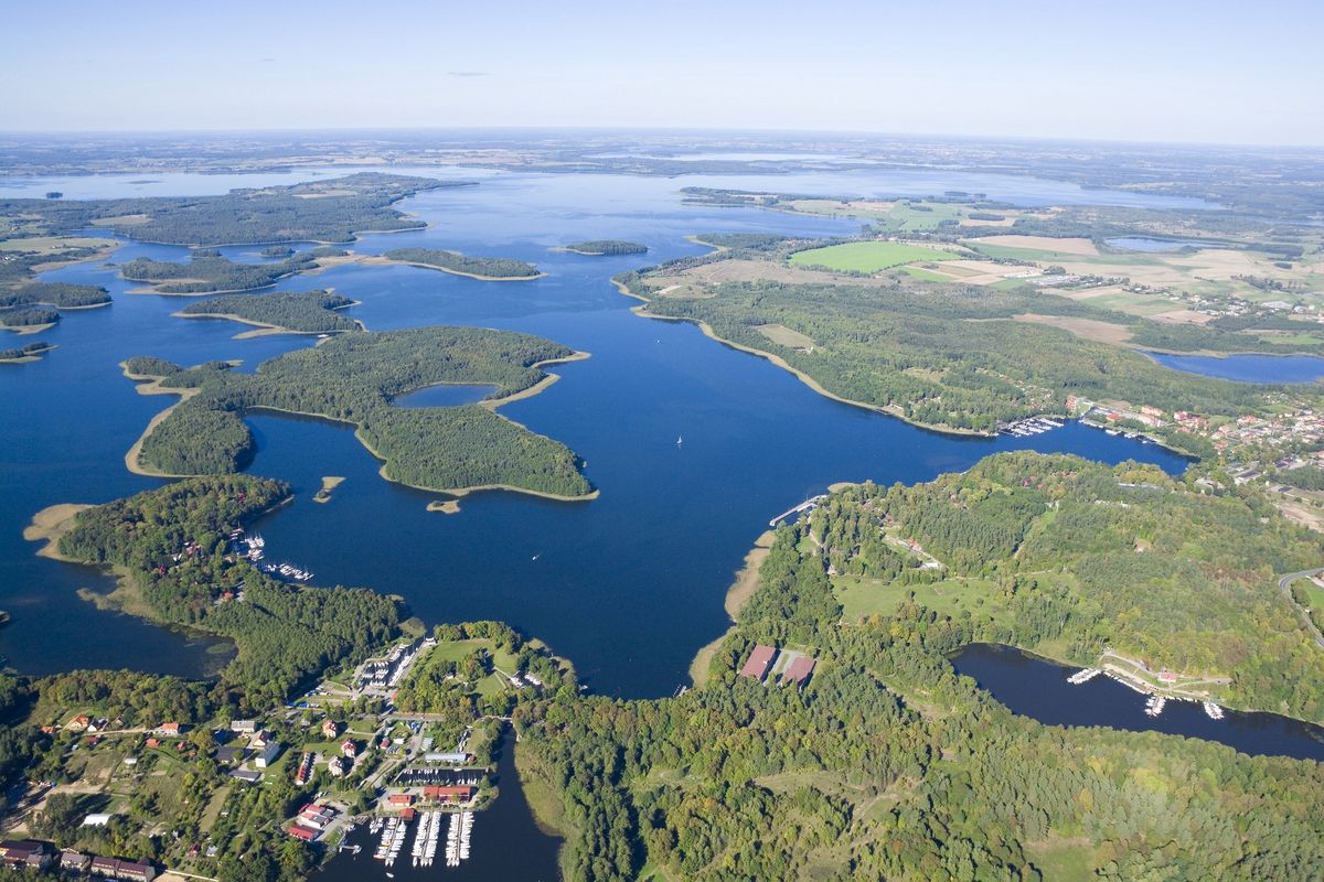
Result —
<path fill-rule="evenodd" d="M 236 189 L 224 196 L 118 200 L 0 200 L 0 217 L 21 235 L 74 233 L 90 226 L 143 242 L 261 245 L 351 242 L 368 230 L 425 225 L 391 208 L 406 196 L 466 181 L 360 172 L 290 186 Z"/>

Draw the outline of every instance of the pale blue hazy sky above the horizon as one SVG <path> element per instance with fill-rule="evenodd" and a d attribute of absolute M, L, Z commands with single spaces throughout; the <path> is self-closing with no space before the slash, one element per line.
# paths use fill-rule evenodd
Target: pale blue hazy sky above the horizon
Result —
<path fill-rule="evenodd" d="M 1324 144 L 1324 0 L 3 4 L 0 130 Z"/>

